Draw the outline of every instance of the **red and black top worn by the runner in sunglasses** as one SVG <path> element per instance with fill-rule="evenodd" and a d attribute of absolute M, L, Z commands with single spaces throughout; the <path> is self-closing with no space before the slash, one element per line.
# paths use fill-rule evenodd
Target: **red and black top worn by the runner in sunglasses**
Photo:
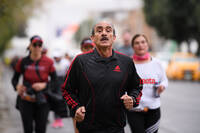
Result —
<path fill-rule="evenodd" d="M 37 72 L 40 76 L 38 76 Z M 33 61 L 30 56 L 27 56 L 17 62 L 12 78 L 12 85 L 15 90 L 21 74 L 23 75 L 23 83 L 28 82 L 31 85 L 37 82 L 48 83 L 49 76 L 52 81 L 56 82 L 57 80 L 53 60 L 45 55 L 42 55 L 38 61 Z"/>

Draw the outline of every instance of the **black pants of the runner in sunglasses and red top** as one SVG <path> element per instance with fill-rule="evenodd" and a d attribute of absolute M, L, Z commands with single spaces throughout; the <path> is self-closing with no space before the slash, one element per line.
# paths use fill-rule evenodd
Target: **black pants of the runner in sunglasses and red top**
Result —
<path fill-rule="evenodd" d="M 24 133 L 33 133 L 33 125 L 35 125 L 35 133 L 46 132 L 49 113 L 49 105 L 47 103 L 37 104 L 20 100 L 19 111 L 23 122 Z M 33 124 L 34 122 L 35 124 Z"/>

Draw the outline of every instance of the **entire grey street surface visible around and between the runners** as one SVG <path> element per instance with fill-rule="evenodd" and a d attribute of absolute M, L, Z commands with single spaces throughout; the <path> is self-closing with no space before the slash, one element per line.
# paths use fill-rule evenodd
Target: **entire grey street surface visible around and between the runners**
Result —
<path fill-rule="evenodd" d="M 12 71 L 4 68 L 0 79 L 0 133 L 23 133 L 21 118 L 15 109 L 16 92 L 10 84 L 11 76 Z M 200 133 L 199 94 L 200 82 L 170 81 L 161 95 L 159 133 Z M 71 118 L 63 119 L 64 127 L 59 129 L 53 129 L 52 122 L 53 114 L 50 112 L 47 133 L 74 133 Z M 125 132 L 131 133 L 128 125 Z"/>

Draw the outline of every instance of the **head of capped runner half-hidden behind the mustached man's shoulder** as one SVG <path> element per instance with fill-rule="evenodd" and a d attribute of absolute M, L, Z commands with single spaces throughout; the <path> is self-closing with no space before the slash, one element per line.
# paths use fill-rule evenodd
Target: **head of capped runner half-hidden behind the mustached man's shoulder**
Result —
<path fill-rule="evenodd" d="M 94 49 L 94 47 L 95 47 L 95 44 L 92 42 L 92 40 L 89 37 L 86 37 L 81 41 L 82 52 L 88 52 Z"/>

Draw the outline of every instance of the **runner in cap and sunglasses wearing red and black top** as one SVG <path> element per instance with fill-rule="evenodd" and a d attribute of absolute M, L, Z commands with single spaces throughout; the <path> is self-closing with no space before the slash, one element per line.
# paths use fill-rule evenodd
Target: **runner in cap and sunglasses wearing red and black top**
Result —
<path fill-rule="evenodd" d="M 33 36 L 28 46 L 29 55 L 20 59 L 12 77 L 17 91 L 17 104 L 22 118 L 24 133 L 45 133 L 49 104 L 47 94 L 49 77 L 57 83 L 53 60 L 42 54 L 43 40 Z M 23 83 L 19 83 L 20 76 Z"/>

